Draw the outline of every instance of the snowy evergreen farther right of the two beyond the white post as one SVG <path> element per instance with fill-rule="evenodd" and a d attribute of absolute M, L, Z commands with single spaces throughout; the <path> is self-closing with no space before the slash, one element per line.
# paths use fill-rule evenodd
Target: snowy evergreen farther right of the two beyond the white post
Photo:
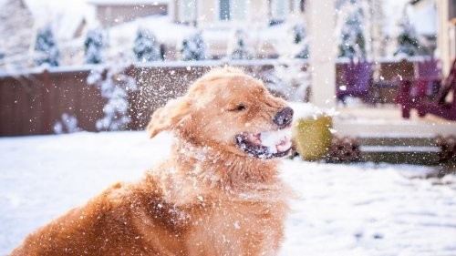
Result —
<path fill-rule="evenodd" d="M 405 12 L 404 12 L 405 13 Z M 422 52 L 420 40 L 415 27 L 411 25 L 409 16 L 404 14 L 399 20 L 400 33 L 398 36 L 398 49 L 394 53 L 397 55 L 418 56 Z"/>

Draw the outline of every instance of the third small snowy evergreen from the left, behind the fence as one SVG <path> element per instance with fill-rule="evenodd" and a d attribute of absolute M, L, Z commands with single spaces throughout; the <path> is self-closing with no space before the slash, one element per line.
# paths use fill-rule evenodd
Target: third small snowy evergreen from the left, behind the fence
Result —
<path fill-rule="evenodd" d="M 140 28 L 136 33 L 133 52 L 140 62 L 162 60 L 160 44 L 149 30 Z"/>

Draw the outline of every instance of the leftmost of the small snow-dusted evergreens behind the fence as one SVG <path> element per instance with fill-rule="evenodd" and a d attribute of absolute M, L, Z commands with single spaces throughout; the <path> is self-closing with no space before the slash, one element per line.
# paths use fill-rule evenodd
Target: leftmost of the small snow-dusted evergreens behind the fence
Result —
<path fill-rule="evenodd" d="M 58 52 L 56 39 L 51 26 L 45 26 L 38 30 L 35 43 L 35 63 L 37 66 L 47 64 L 58 66 Z"/>

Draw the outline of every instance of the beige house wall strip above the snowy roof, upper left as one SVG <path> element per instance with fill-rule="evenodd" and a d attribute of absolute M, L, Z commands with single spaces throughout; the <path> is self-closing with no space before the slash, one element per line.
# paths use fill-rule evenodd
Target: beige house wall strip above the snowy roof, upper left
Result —
<path fill-rule="evenodd" d="M 148 15 L 166 15 L 168 5 L 97 5 L 97 17 L 103 26 L 113 26 Z"/>

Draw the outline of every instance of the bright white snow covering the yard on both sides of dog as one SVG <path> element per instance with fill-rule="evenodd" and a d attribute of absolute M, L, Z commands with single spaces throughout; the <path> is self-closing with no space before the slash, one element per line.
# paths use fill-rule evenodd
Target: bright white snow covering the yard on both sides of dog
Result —
<path fill-rule="evenodd" d="M 144 132 L 0 138 L 0 255 L 109 184 L 140 179 L 169 145 Z M 456 255 L 455 176 L 300 159 L 281 169 L 296 198 L 280 255 Z"/>

